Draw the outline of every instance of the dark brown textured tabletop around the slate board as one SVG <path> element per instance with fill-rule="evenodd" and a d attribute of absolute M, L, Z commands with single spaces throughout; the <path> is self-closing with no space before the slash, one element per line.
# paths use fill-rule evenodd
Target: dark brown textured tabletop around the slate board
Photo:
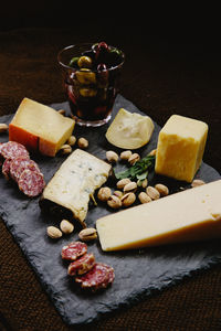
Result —
<path fill-rule="evenodd" d="M 0 32 L 0 115 L 27 96 L 65 100 L 56 53 L 65 45 L 105 40 L 126 53 L 122 94 L 160 126 L 172 114 L 204 120 L 204 161 L 221 171 L 221 54 L 217 42 L 183 33 L 39 26 Z M 130 28 L 129 28 L 130 26 Z M 158 31 L 159 32 L 159 31 Z M 183 32 L 183 31 L 182 31 Z M 189 35 L 188 35 L 189 36 Z M 11 234 L 0 222 L 0 329 L 77 330 L 65 325 Z M 201 271 L 86 330 L 221 330 L 221 266 Z"/>

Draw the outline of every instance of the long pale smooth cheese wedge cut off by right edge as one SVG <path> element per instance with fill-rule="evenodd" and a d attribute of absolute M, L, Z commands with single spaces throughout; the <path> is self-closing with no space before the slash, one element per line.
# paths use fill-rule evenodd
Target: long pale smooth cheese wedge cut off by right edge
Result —
<path fill-rule="evenodd" d="M 221 180 L 96 221 L 103 250 L 221 237 Z"/>

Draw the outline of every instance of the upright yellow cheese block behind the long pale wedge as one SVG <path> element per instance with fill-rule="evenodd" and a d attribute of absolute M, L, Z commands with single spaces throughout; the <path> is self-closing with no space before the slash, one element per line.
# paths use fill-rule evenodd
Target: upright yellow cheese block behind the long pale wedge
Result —
<path fill-rule="evenodd" d="M 208 125 L 172 115 L 159 132 L 155 171 L 191 182 L 204 152 Z"/>

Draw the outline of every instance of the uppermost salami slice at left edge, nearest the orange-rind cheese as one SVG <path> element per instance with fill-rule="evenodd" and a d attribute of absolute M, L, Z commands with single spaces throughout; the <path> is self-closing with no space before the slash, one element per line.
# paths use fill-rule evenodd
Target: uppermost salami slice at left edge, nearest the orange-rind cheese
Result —
<path fill-rule="evenodd" d="M 14 159 L 20 156 L 29 156 L 25 147 L 15 141 L 8 141 L 2 143 L 1 146 L 1 154 L 4 159 Z"/>

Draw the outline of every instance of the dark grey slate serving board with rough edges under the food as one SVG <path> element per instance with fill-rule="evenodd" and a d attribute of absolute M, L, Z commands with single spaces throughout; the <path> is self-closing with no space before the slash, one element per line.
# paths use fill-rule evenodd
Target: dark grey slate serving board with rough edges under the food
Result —
<path fill-rule="evenodd" d="M 54 109 L 65 109 L 67 114 L 70 111 L 67 103 L 51 106 Z M 129 100 L 118 95 L 113 118 L 120 107 L 143 114 Z M 3 116 L 0 121 L 9 124 L 12 116 Z M 76 126 L 74 135 L 87 138 L 90 141 L 87 151 L 105 159 L 106 150 L 113 149 L 113 146 L 109 146 L 105 138 L 108 125 L 99 128 Z M 143 157 L 156 148 L 159 130 L 160 127 L 155 124 L 151 141 L 139 150 Z M 1 136 L 0 141 L 8 141 L 8 136 Z M 119 151 L 117 148 L 115 150 Z M 33 158 L 39 163 L 45 181 L 49 182 L 66 157 Z M 123 170 L 125 167 L 119 162 L 117 170 Z M 220 179 L 220 174 L 211 167 L 202 163 L 197 178 L 211 182 Z M 187 183 L 166 180 L 166 178 L 152 174 L 149 180 L 150 184 L 156 182 L 168 184 L 170 192 L 177 192 L 180 188 L 188 188 Z M 221 261 L 219 241 L 117 253 L 103 253 L 98 241 L 96 241 L 88 244 L 88 252 L 94 253 L 97 261 L 113 266 L 116 277 L 113 286 L 107 290 L 95 295 L 84 293 L 67 277 L 67 264 L 61 259 L 62 247 L 71 241 L 78 239 L 77 232 L 63 236 L 59 241 L 50 239 L 46 236 L 46 227 L 56 225 L 56 221 L 49 216 L 45 217 L 41 213 L 39 197 L 28 199 L 19 192 L 13 183 L 7 182 L 2 175 L 0 175 L 0 216 L 67 324 L 90 323 L 116 309 L 136 303 L 152 291 L 173 285 L 196 270 L 208 268 L 212 264 Z M 87 225 L 95 226 L 95 221 L 98 217 L 110 212 L 113 211 L 104 205 L 97 207 L 91 205 L 86 217 Z"/>

